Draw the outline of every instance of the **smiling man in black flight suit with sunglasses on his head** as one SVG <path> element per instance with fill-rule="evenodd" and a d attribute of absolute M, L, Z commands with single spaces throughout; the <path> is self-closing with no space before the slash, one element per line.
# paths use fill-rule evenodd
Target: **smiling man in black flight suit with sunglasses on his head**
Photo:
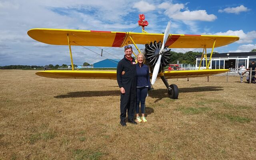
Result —
<path fill-rule="evenodd" d="M 116 79 L 121 92 L 120 124 L 122 126 L 126 126 L 126 110 L 128 122 L 137 124 L 133 119 L 136 106 L 137 73 L 135 60 L 132 58 L 132 46 L 125 46 L 124 54 L 124 58 L 118 62 L 116 69 Z M 122 71 L 125 71 L 123 76 Z"/>

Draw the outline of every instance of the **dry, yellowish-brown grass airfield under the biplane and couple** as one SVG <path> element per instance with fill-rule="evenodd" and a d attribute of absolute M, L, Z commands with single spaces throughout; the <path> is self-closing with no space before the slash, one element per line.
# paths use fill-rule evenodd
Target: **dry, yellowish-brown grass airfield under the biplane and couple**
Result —
<path fill-rule="evenodd" d="M 161 80 L 147 123 L 120 126 L 115 80 L 51 79 L 0 70 L 1 160 L 255 160 L 256 85 L 239 77 Z"/>

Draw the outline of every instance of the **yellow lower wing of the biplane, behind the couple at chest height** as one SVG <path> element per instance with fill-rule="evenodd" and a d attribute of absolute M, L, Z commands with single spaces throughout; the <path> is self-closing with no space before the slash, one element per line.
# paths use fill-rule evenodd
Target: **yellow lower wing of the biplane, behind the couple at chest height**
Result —
<path fill-rule="evenodd" d="M 171 78 L 192 78 L 212 76 L 215 74 L 228 72 L 227 69 L 220 70 L 177 70 L 165 71 L 166 79 Z M 36 75 L 48 78 L 97 78 L 116 80 L 116 71 L 78 71 L 78 70 L 46 70 L 36 72 Z"/>

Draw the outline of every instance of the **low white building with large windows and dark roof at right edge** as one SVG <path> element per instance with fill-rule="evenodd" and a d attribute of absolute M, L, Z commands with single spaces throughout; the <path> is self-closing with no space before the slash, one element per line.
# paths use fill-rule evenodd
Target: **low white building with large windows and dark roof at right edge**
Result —
<path fill-rule="evenodd" d="M 207 63 L 209 63 L 210 55 L 207 54 Z M 200 69 L 206 69 L 206 58 L 202 59 Z M 201 56 L 196 56 L 196 69 L 199 68 Z M 212 54 L 209 69 L 236 69 L 243 64 L 248 68 L 252 61 L 256 62 L 256 52 L 239 52 L 239 53 L 220 53 Z"/>

